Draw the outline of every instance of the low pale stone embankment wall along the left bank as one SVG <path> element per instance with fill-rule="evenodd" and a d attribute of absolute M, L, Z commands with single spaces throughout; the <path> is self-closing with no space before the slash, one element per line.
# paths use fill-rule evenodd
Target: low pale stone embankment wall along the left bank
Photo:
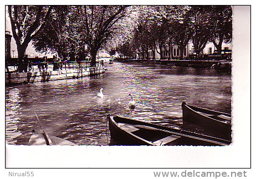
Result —
<path fill-rule="evenodd" d="M 94 76 L 104 73 L 104 66 L 87 67 L 84 69 L 65 69 L 58 71 L 38 72 L 11 72 L 6 73 L 6 85 L 19 83 L 33 83 L 52 80 L 64 80 L 67 78 L 79 78 L 83 76 Z"/>

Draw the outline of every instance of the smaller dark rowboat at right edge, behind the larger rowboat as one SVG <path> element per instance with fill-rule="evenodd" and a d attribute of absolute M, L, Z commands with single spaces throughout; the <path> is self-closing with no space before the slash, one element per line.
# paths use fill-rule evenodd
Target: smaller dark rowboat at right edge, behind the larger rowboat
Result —
<path fill-rule="evenodd" d="M 182 103 L 183 122 L 198 124 L 202 129 L 231 138 L 231 114 Z"/>

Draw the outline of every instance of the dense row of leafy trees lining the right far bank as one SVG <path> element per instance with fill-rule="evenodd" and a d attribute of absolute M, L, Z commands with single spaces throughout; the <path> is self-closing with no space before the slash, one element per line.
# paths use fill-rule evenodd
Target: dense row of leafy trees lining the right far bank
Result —
<path fill-rule="evenodd" d="M 197 56 L 209 42 L 221 54 L 222 43 L 232 41 L 231 6 L 144 6 L 138 16 L 132 39 L 116 48 L 122 55 L 134 52 L 149 59 L 151 50 L 153 58 L 157 52 L 163 59 L 163 48 L 171 59 L 172 50 L 167 46 L 177 45 L 183 59 L 189 41 Z"/>

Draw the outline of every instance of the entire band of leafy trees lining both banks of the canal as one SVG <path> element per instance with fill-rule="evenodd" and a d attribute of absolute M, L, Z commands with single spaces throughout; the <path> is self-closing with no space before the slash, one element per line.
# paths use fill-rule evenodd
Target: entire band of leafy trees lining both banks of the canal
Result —
<path fill-rule="evenodd" d="M 99 49 L 148 58 L 171 45 L 183 54 L 189 40 L 197 53 L 208 41 L 221 52 L 232 40 L 230 6 L 8 6 L 8 13 L 19 59 L 30 41 L 38 52 L 88 55 L 95 66 Z"/>

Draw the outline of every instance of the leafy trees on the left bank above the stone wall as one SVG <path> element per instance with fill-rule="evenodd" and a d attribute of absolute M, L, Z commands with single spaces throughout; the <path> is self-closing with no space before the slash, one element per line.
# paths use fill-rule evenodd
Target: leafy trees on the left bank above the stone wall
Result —
<path fill-rule="evenodd" d="M 127 6 L 8 6 L 18 58 L 32 40 L 38 52 L 59 56 L 96 54 L 114 34 Z M 87 48 L 85 48 L 85 46 Z"/>

